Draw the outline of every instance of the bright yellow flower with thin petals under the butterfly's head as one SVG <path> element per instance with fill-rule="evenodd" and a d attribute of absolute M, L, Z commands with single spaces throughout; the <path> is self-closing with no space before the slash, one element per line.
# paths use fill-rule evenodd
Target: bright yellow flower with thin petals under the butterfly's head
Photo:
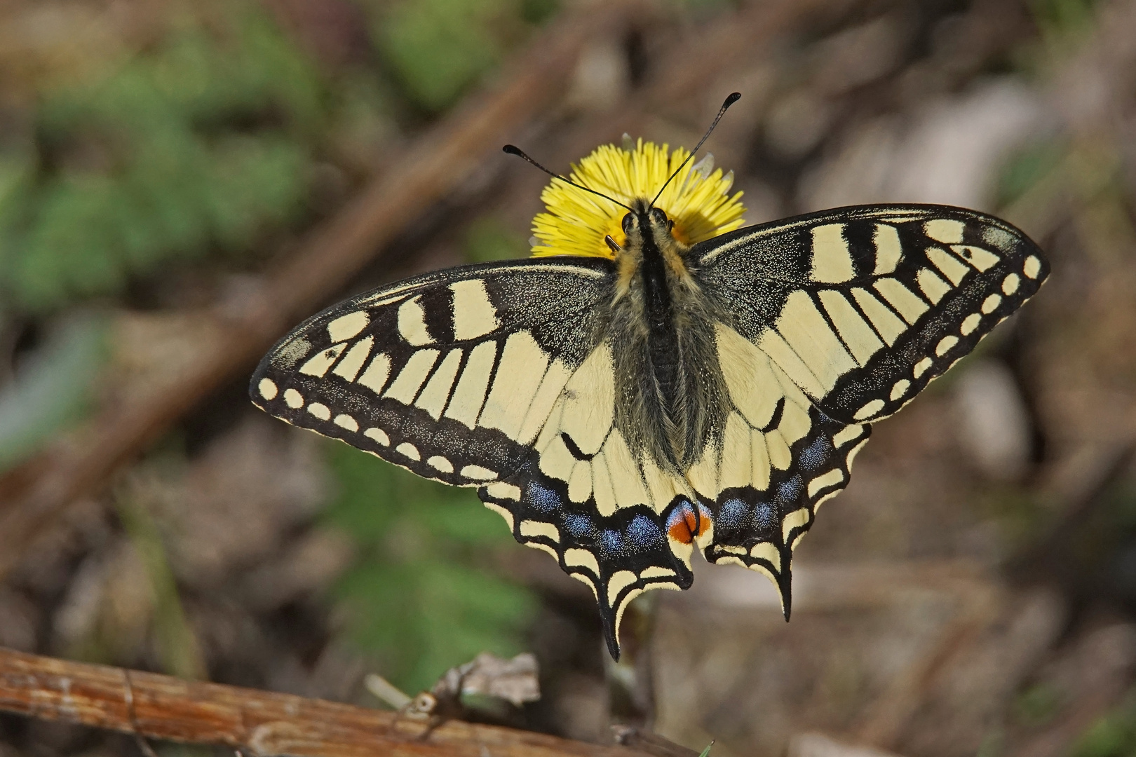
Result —
<path fill-rule="evenodd" d="M 596 148 L 579 166 L 573 166 L 569 178 L 629 205 L 637 197 L 653 197 L 690 154 L 683 148 L 668 154 L 666 144 L 659 146 L 643 140 L 634 149 L 629 140 L 625 142 L 624 149 L 612 144 Z M 734 173 L 722 176 L 720 168 L 710 173 L 711 168 L 709 159 L 687 163 L 654 203 L 675 221 L 675 238 L 684 244 L 732 232 L 745 222 L 742 193 L 728 194 Z M 533 219 L 533 255 L 613 258 L 603 237 L 610 234 L 620 246 L 627 239 L 621 225 L 627 210 L 610 200 L 559 179 L 544 187 L 541 200 L 548 212 Z"/>

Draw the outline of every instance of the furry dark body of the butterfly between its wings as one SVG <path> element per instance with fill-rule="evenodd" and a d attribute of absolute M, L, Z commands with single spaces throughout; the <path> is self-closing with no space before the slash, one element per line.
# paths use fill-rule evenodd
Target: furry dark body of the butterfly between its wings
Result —
<path fill-rule="evenodd" d="M 645 200 L 624 219 L 625 245 L 616 253 L 617 281 L 607 323 L 616 356 L 617 423 L 665 468 L 693 464 L 722 412 L 715 370 L 715 310 L 671 221 Z"/>

